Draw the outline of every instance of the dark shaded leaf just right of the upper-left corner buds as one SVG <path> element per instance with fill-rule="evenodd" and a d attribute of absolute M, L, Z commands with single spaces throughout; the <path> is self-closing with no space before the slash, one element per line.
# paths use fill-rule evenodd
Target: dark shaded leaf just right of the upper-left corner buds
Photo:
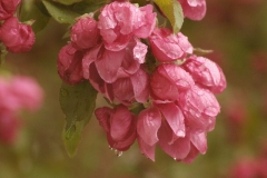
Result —
<path fill-rule="evenodd" d="M 42 12 L 43 6 L 40 1 L 22 1 L 20 11 L 20 21 L 34 20 L 31 26 L 34 32 L 42 30 L 50 19 L 49 16 Z"/>

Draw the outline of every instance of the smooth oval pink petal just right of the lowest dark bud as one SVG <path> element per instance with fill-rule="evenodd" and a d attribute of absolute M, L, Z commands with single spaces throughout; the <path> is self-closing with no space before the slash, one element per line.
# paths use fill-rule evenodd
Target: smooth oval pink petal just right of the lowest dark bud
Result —
<path fill-rule="evenodd" d="M 149 146 L 158 141 L 158 129 L 161 125 L 161 116 L 157 108 L 151 107 L 142 110 L 137 118 L 137 132 Z"/>

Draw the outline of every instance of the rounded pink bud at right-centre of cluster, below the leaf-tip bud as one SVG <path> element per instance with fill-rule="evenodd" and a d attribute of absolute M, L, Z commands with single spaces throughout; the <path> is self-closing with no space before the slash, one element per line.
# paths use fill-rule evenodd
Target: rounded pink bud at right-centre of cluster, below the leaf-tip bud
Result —
<path fill-rule="evenodd" d="M 150 86 L 155 100 L 175 101 L 180 92 L 195 85 L 191 76 L 176 65 L 160 65 L 152 73 Z"/>

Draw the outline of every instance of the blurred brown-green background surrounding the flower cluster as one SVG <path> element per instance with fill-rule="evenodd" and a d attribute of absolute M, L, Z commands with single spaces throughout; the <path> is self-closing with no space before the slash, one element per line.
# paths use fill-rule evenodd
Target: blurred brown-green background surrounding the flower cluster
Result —
<path fill-rule="evenodd" d="M 37 112 L 21 112 L 14 144 L 0 144 L 0 178 L 228 178 L 238 167 L 239 177 L 233 177 L 245 178 L 241 174 L 255 165 L 267 169 L 266 21 L 266 0 L 207 0 L 204 20 L 185 21 L 181 31 L 195 47 L 214 50 L 206 57 L 219 63 L 228 82 L 217 96 L 221 112 L 208 134 L 207 154 L 186 165 L 160 149 L 152 162 L 137 144 L 117 157 L 95 117 L 85 128 L 77 155 L 68 156 L 61 139 L 65 116 L 57 73 L 57 53 L 68 40 L 62 39 L 68 26 L 50 20 L 37 33 L 30 52 L 9 53 L 1 67 L 36 78 L 44 101 Z M 105 101 L 98 98 L 101 106 Z"/>

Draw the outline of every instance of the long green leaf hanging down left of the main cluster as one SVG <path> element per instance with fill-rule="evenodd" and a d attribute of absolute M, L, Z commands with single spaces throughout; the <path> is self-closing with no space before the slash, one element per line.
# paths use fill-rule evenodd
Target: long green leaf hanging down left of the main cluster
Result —
<path fill-rule="evenodd" d="M 63 141 L 68 154 L 72 157 L 81 139 L 81 132 L 90 120 L 96 107 L 97 91 L 88 81 L 69 86 L 62 83 L 59 101 L 66 115 Z"/>

